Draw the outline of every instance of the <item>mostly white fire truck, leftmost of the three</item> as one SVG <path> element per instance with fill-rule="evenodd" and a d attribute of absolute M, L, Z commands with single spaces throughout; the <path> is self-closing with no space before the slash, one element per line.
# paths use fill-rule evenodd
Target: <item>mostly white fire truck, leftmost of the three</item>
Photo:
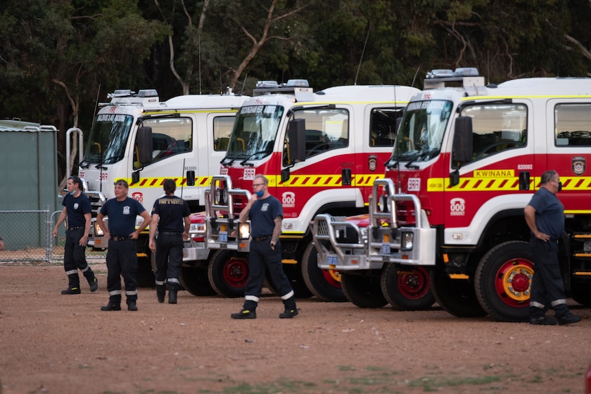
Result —
<path fill-rule="evenodd" d="M 148 211 L 164 194 L 162 184 L 167 178 L 175 180 L 176 194 L 189 203 L 191 212 L 203 210 L 210 174 L 219 171 L 234 116 L 248 97 L 228 90 L 222 95 L 184 95 L 160 102 L 154 89 L 138 93 L 115 90 L 108 97 L 109 103 L 99 104 L 101 108 L 93 121 L 83 157 L 82 131 L 67 132 L 80 134 L 78 173 L 85 183 L 84 193 L 91 199 L 93 218 L 105 201 L 114 197 L 114 181 L 120 179 L 129 183 L 129 196 Z M 68 135 L 67 158 L 70 139 Z M 108 243 L 93 220 L 88 245 L 95 250 L 106 249 Z M 189 243 L 190 253 L 184 254 L 184 260 L 207 258 L 203 243 L 194 240 Z M 138 238 L 137 250 L 140 278 L 147 278 L 145 285 L 152 285 L 154 276 L 152 282 L 149 278 L 154 262 L 150 258 L 147 231 Z M 215 294 L 208 286 L 206 272 L 191 268 L 191 275 L 186 278 L 182 283 L 185 288 Z"/>

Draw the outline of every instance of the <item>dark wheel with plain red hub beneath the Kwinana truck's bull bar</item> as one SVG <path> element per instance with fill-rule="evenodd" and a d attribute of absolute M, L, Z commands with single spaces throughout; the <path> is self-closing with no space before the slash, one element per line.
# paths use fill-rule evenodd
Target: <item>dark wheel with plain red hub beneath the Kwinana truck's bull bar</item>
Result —
<path fill-rule="evenodd" d="M 426 310 L 435 303 L 429 286 L 429 271 L 386 263 L 382 269 L 382 293 L 396 310 Z"/>

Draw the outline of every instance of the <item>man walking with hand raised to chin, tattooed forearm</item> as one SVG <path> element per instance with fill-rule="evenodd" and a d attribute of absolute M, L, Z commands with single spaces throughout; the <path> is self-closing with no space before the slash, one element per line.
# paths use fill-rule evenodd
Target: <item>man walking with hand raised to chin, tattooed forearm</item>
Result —
<path fill-rule="evenodd" d="M 256 175 L 252 183 L 254 194 L 240 212 L 240 222 L 250 218 L 249 275 L 244 288 L 244 305 L 240 312 L 232 313 L 232 319 L 256 319 L 256 307 L 263 290 L 265 269 L 271 275 L 273 286 L 281 295 L 285 311 L 280 319 L 298 315 L 293 289 L 283 272 L 279 236 L 283 220 L 283 208 L 278 199 L 269 194 L 267 177 Z"/>

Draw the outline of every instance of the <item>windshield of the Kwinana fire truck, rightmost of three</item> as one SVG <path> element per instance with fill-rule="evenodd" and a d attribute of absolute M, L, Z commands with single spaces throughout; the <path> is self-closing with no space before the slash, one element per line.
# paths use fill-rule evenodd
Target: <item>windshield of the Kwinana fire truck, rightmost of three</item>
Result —
<path fill-rule="evenodd" d="M 427 100 L 409 103 L 396 134 L 394 160 L 427 161 L 441 151 L 450 118 L 451 101 Z"/>

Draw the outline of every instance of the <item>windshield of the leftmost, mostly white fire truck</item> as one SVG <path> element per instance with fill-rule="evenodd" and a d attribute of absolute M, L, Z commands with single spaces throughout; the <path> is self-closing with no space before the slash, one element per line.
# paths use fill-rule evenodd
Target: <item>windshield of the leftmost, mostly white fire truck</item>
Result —
<path fill-rule="evenodd" d="M 84 153 L 87 163 L 113 164 L 125 157 L 133 116 L 99 114 Z"/>

